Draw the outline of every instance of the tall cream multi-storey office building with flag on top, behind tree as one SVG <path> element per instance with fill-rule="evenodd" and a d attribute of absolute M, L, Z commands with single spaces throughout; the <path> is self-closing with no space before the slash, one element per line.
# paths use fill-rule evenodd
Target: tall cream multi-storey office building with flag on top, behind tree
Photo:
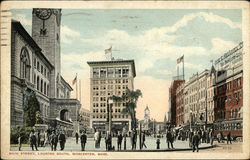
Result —
<path fill-rule="evenodd" d="M 90 66 L 90 128 L 105 131 L 108 98 L 122 96 L 134 89 L 136 76 L 134 60 L 87 62 Z M 129 114 L 122 113 L 125 103 L 112 104 L 112 130 L 131 130 Z"/>

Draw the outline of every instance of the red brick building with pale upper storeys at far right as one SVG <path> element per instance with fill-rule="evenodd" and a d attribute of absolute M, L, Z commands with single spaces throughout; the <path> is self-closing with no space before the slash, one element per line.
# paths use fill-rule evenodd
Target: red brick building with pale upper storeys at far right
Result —
<path fill-rule="evenodd" d="M 215 128 L 235 130 L 242 135 L 243 115 L 243 43 L 225 53 L 216 62 Z"/>

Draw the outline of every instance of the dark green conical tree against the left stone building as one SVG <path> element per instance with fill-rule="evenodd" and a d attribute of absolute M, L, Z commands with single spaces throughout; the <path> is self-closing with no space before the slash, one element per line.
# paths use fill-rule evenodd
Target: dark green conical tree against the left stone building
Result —
<path fill-rule="evenodd" d="M 40 104 L 33 91 L 25 94 L 24 97 L 24 116 L 25 126 L 33 127 L 37 122 L 37 112 L 40 110 Z M 42 122 L 40 122 L 42 123 Z"/>

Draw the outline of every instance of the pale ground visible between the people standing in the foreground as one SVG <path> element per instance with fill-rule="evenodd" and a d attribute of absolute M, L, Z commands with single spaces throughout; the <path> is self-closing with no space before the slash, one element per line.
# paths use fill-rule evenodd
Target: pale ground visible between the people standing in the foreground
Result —
<path fill-rule="evenodd" d="M 160 149 L 156 149 L 156 139 L 153 137 L 147 137 L 145 144 L 147 146 L 147 148 L 143 148 L 142 150 L 139 149 L 139 141 L 137 141 L 137 146 L 136 149 L 137 150 L 131 150 L 131 142 L 130 139 L 127 138 L 126 141 L 126 150 L 124 150 L 124 141 L 122 142 L 122 150 L 121 151 L 117 151 L 117 138 L 112 138 L 112 145 L 115 147 L 115 151 L 111 151 L 111 152 L 173 152 L 173 151 L 191 151 L 192 148 L 189 147 L 189 143 L 188 141 L 175 141 L 174 142 L 174 149 L 168 149 L 168 145 L 166 142 L 165 138 L 161 138 L 161 143 L 160 143 Z M 101 145 L 100 148 L 95 148 L 95 142 L 93 138 L 88 138 L 87 143 L 86 143 L 86 147 L 85 150 L 88 152 L 106 152 L 105 149 L 105 142 L 104 142 L 104 138 L 102 138 L 101 140 Z M 207 143 L 201 143 L 199 145 L 199 148 L 202 149 L 209 149 L 209 148 L 213 148 L 214 146 L 211 146 L 211 144 L 207 144 Z M 18 147 L 17 145 L 11 145 L 11 151 L 17 151 Z M 22 145 L 22 151 L 32 151 L 31 147 L 27 144 Z M 39 147 L 38 148 L 39 151 L 51 151 L 51 148 L 49 145 L 47 145 L 46 147 Z M 57 145 L 57 150 L 60 150 L 60 145 L 58 143 Z M 78 144 L 76 144 L 76 140 L 75 138 L 67 138 L 66 144 L 65 144 L 65 149 L 64 151 L 74 151 L 74 152 L 81 152 L 81 144 L 80 141 L 78 142 Z"/>

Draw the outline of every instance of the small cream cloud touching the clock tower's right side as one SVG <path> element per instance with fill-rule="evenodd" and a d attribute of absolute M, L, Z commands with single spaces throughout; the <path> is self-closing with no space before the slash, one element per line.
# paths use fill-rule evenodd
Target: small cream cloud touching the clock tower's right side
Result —
<path fill-rule="evenodd" d="M 80 33 L 66 25 L 61 27 L 61 40 L 63 43 L 71 44 L 73 39 L 80 37 Z"/>

